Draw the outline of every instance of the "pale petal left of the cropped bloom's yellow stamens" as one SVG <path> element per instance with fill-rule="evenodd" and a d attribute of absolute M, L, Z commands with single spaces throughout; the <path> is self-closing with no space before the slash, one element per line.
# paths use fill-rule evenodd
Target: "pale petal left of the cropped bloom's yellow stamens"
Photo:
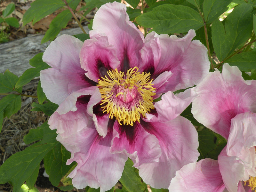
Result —
<path fill-rule="evenodd" d="M 228 191 L 237 191 L 238 183 L 244 177 L 245 172 L 242 161 L 237 156 L 227 156 L 225 147 L 218 156 L 218 163 L 223 182 Z"/>

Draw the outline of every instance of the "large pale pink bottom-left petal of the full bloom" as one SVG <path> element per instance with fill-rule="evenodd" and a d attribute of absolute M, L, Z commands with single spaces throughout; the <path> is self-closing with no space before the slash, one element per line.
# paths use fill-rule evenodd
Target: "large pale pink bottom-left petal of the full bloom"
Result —
<path fill-rule="evenodd" d="M 71 111 L 69 115 L 73 113 L 77 114 L 78 111 Z M 67 115 L 61 116 L 67 117 Z M 62 119 L 65 130 L 76 129 L 76 124 L 72 125 L 72 120 L 67 122 L 69 119 Z M 57 140 L 71 152 L 67 164 L 77 162 L 76 168 L 68 177 L 73 178 L 72 183 L 76 188 L 85 188 L 88 185 L 93 188 L 100 187 L 100 192 L 107 191 L 121 178 L 127 156 L 122 153 L 109 153 L 112 132 L 109 132 L 105 138 L 99 136 L 91 116 L 88 116 L 87 121 L 82 118 L 77 118 L 76 121 L 81 121 L 81 125 L 82 122 L 84 123 L 83 129 L 77 130 L 68 137 L 63 137 L 61 134 L 57 136 Z M 60 119 L 59 123 L 61 124 Z"/>

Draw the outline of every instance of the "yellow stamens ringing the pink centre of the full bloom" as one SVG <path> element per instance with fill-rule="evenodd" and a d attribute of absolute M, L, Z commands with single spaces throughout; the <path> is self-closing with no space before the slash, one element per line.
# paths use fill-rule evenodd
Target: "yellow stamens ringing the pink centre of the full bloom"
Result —
<path fill-rule="evenodd" d="M 145 117 L 149 110 L 154 109 L 153 97 L 156 88 L 152 87 L 150 73 L 140 73 L 137 67 L 124 72 L 117 69 L 109 70 L 108 76 L 101 77 L 97 84 L 100 93 L 100 105 L 103 105 L 103 113 L 109 113 L 109 117 L 116 118 L 120 125 L 133 125 L 140 122 L 140 116 Z"/>

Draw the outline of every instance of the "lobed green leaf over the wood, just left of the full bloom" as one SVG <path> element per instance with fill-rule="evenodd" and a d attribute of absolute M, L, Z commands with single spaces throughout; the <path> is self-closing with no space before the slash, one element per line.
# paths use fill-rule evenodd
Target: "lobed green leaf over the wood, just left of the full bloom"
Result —
<path fill-rule="evenodd" d="M 27 83 L 29 83 L 33 78 L 40 76 L 40 71 L 43 69 L 50 68 L 43 59 L 43 53 L 36 54 L 31 60 L 29 60 L 29 64 L 35 68 L 27 69 L 17 81 L 15 88 L 19 88 Z"/>

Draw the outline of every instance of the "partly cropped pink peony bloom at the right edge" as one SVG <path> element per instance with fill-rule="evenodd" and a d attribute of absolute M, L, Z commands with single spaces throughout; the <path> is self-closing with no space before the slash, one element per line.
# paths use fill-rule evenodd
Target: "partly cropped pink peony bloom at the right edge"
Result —
<path fill-rule="evenodd" d="M 227 139 L 218 161 L 202 159 L 176 172 L 171 191 L 253 191 L 256 188 L 256 80 L 223 65 L 196 87 L 196 120 Z M 207 105 L 206 105 L 207 104 Z M 202 107 L 204 106 L 204 107 Z"/>

